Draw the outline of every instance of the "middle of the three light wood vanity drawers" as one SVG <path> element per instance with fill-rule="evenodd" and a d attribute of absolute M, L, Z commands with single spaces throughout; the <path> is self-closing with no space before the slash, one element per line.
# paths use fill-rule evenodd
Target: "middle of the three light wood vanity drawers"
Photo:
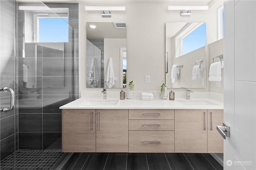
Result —
<path fill-rule="evenodd" d="M 129 131 L 174 131 L 174 120 L 129 120 Z"/>

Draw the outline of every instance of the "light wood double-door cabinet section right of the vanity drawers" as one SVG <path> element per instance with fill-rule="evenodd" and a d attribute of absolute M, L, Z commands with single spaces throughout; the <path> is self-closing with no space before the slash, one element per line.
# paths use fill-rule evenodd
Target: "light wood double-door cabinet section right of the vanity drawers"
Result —
<path fill-rule="evenodd" d="M 175 110 L 175 152 L 222 153 L 222 122 L 223 110 Z"/>

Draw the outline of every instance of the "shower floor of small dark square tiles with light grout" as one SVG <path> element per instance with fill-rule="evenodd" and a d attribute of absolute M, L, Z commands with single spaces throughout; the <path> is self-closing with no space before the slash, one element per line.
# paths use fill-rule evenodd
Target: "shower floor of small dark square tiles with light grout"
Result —
<path fill-rule="evenodd" d="M 1 161 L 0 169 L 49 170 L 63 154 L 61 150 L 17 150 Z"/>

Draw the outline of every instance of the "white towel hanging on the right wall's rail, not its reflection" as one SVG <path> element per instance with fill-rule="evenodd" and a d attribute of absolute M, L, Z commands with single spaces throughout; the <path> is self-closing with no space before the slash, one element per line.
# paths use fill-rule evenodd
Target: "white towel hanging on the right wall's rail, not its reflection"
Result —
<path fill-rule="evenodd" d="M 222 63 L 224 65 L 224 63 Z M 209 70 L 209 81 L 221 81 L 221 64 L 220 62 L 212 63 Z"/>

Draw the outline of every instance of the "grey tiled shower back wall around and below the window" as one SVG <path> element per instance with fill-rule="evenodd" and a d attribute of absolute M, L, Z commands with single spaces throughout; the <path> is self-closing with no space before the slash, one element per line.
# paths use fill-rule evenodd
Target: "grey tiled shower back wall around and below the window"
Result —
<path fill-rule="evenodd" d="M 24 43 L 24 11 L 18 11 L 19 149 L 61 149 L 59 107 L 79 97 L 78 4 L 46 5 L 69 8 L 69 42 Z"/>

